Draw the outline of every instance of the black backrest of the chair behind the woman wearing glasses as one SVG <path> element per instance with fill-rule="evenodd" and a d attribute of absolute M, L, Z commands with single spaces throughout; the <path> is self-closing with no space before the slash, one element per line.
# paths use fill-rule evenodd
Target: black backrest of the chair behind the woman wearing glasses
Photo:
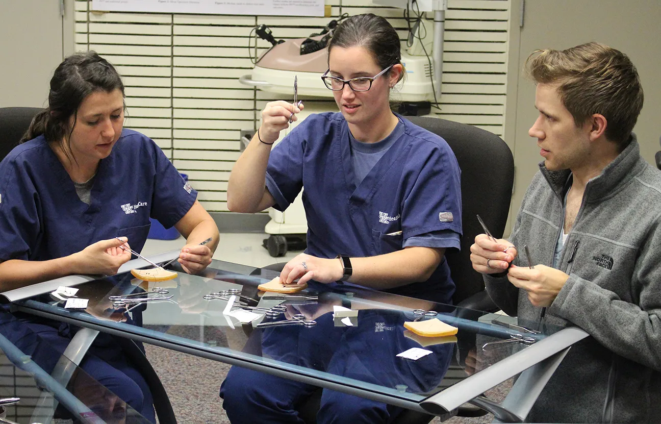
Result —
<path fill-rule="evenodd" d="M 482 275 L 471 265 L 471 245 L 476 235 L 484 233 L 476 215 L 494 237 L 502 237 L 512 199 L 514 157 L 500 137 L 481 128 L 425 116 L 407 119 L 444 138 L 461 169 L 461 251 L 446 252 L 457 286 L 453 301 L 458 304 L 485 288 Z"/>

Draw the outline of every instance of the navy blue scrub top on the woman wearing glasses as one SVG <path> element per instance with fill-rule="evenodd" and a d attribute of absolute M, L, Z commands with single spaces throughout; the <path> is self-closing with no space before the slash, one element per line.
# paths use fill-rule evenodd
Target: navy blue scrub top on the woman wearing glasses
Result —
<path fill-rule="evenodd" d="M 409 237 L 461 234 L 461 171 L 453 151 L 440 136 L 397 116 L 404 133 L 358 186 L 339 112 L 308 116 L 273 148 L 266 185 L 274 208 L 285 210 L 305 187 L 306 253 L 371 257 L 403 249 Z M 385 291 L 451 303 L 454 283 L 444 260 L 426 282 Z"/>

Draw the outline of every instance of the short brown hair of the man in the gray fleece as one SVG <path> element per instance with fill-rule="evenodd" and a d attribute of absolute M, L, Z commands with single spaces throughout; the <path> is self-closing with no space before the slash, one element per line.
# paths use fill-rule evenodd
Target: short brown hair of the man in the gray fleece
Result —
<path fill-rule="evenodd" d="M 642 108 L 642 87 L 629 57 L 590 42 L 567 50 L 537 50 L 525 61 L 536 84 L 557 85 L 564 107 L 581 126 L 592 114 L 607 121 L 605 136 L 624 148 Z"/>

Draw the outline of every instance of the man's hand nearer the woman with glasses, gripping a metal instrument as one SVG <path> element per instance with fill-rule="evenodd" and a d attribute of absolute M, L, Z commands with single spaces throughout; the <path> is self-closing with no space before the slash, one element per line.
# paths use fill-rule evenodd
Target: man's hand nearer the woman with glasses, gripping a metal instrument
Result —
<path fill-rule="evenodd" d="M 486 234 L 475 237 L 471 246 L 471 262 L 478 273 L 496 274 L 507 271 L 518 255 L 516 247 L 506 239 L 490 239 Z"/>

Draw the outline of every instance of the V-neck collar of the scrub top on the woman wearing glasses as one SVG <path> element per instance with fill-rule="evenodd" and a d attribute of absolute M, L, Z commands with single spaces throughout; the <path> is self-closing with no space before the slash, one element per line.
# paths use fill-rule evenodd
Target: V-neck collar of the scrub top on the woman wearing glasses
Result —
<path fill-rule="evenodd" d="M 351 161 L 351 146 L 349 139 L 349 124 L 346 120 L 342 120 L 342 132 L 340 143 L 338 143 L 338 153 L 340 155 L 340 161 L 342 167 L 344 168 L 344 182 L 347 187 L 349 187 L 350 200 L 368 200 L 369 196 L 377 189 L 377 183 L 383 178 L 383 175 L 390 169 L 391 165 L 399 159 L 401 152 L 408 144 L 400 143 L 399 140 L 407 134 L 408 132 L 408 121 L 402 118 L 399 114 L 393 112 L 397 119 L 399 119 L 404 124 L 404 132 L 399 136 L 397 141 L 393 143 L 392 146 L 385 152 L 385 155 L 379 159 L 379 161 L 372 167 L 372 169 L 365 176 L 363 181 L 356 186 L 356 177 L 354 174 L 354 165 Z"/>

